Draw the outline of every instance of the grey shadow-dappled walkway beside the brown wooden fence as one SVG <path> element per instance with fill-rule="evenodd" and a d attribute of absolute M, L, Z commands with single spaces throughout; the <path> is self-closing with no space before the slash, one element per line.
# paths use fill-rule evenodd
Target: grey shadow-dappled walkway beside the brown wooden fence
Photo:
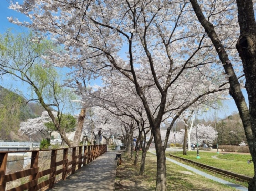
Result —
<path fill-rule="evenodd" d="M 113 191 L 117 166 L 116 153 L 118 152 L 104 153 L 47 191 Z"/>

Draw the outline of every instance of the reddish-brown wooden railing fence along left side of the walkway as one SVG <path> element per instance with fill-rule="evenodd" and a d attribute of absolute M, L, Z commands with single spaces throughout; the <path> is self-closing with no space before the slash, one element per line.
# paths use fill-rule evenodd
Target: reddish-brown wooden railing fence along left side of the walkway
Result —
<path fill-rule="evenodd" d="M 65 180 L 69 174 L 90 163 L 107 151 L 106 145 L 78 146 L 53 150 L 0 151 L 0 190 L 36 191 L 41 188 L 53 188 L 55 181 Z M 13 156 L 23 154 L 20 159 Z M 12 154 L 8 157 L 8 154 Z M 10 159 L 11 157 L 11 159 Z M 23 162 L 23 163 L 22 163 Z M 8 173 L 8 163 L 21 170 Z M 22 163 L 22 164 L 21 164 Z"/>

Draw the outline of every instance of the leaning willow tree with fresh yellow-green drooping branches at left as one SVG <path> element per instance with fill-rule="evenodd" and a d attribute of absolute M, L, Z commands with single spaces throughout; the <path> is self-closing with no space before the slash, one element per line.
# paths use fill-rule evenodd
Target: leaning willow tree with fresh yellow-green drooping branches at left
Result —
<path fill-rule="evenodd" d="M 0 36 L 0 76 L 8 75 L 28 88 L 26 102 L 39 102 L 48 112 L 61 138 L 72 146 L 61 128 L 62 112 L 72 98 L 70 91 L 60 84 L 58 71 L 43 56 L 57 49 L 49 40 L 38 39 L 32 32 L 13 34 L 7 31 Z M 57 117 L 52 110 L 57 111 Z"/>

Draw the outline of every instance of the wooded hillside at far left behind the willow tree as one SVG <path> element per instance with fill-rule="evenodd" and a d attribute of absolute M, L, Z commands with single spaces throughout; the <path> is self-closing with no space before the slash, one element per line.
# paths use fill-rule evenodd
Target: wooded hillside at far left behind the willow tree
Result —
<path fill-rule="evenodd" d="M 18 93 L 0 86 L 0 140 L 29 141 L 28 136 L 18 131 L 20 122 L 41 116 L 44 110 L 40 104 L 28 102 Z M 31 139 L 38 142 L 42 139 L 42 135 L 35 135 Z"/>

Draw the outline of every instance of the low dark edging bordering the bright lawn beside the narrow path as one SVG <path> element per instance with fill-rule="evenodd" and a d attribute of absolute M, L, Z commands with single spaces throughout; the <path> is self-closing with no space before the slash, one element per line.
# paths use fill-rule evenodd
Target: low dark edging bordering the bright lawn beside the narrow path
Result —
<path fill-rule="evenodd" d="M 210 170 L 210 171 L 215 172 L 217 174 L 221 174 L 221 175 L 229 177 L 229 178 L 234 178 L 234 179 L 236 179 L 238 181 L 249 182 L 250 180 L 252 180 L 252 177 L 249 177 L 249 176 L 236 174 L 234 172 L 230 172 L 230 171 L 227 171 L 227 170 L 222 170 L 222 169 L 215 168 L 215 167 L 212 167 L 212 166 L 209 166 L 209 165 L 205 165 L 205 164 L 202 164 L 202 163 L 197 163 L 197 162 L 195 162 L 193 160 L 188 160 L 188 159 L 185 159 L 185 158 L 182 158 L 182 157 L 178 157 L 178 156 L 175 156 L 175 155 L 172 155 L 172 154 L 169 154 L 169 156 L 171 156 L 173 158 L 177 158 L 177 159 L 183 160 L 183 161 L 185 161 L 187 163 L 191 163 L 193 165 L 196 165 L 198 167 L 204 168 L 206 170 Z"/>

